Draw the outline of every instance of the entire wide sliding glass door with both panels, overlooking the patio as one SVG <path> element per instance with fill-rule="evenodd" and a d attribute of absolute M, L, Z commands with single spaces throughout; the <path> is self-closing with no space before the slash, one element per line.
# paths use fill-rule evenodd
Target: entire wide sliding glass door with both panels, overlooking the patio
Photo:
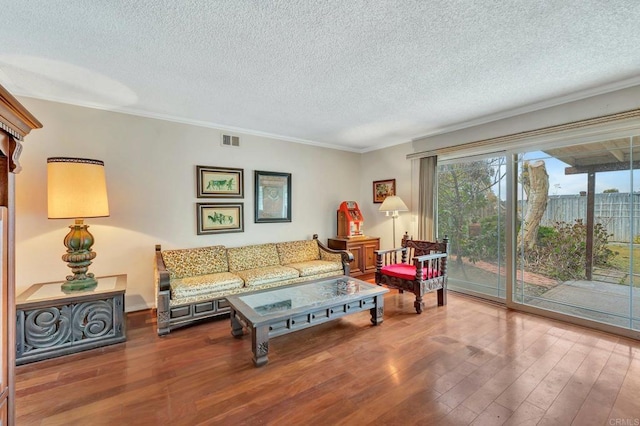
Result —
<path fill-rule="evenodd" d="M 449 289 L 637 338 L 640 110 L 437 155 Z"/>

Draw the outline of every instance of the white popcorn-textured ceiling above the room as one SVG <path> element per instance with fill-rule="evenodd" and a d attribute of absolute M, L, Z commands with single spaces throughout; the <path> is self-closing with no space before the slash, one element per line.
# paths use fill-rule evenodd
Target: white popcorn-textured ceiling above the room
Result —
<path fill-rule="evenodd" d="M 356 152 L 640 84 L 638 0 L 0 0 L 16 95 Z"/>

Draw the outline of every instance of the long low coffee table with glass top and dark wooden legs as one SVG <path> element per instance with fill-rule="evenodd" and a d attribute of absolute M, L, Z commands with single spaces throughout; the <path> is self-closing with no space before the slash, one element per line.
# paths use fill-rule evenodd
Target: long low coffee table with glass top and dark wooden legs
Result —
<path fill-rule="evenodd" d="M 251 349 L 256 367 L 269 359 L 269 338 L 302 330 L 369 310 L 371 323 L 381 324 L 384 293 L 389 290 L 342 276 L 324 278 L 251 294 L 228 296 L 231 334 L 241 337 L 251 329 Z"/>

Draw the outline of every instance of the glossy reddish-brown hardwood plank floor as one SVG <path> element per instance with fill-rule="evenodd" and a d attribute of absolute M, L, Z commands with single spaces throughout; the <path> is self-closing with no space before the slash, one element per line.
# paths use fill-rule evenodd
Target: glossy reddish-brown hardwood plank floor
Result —
<path fill-rule="evenodd" d="M 17 367 L 18 425 L 638 425 L 640 342 L 449 293 L 277 337 L 255 368 L 227 318 Z"/>

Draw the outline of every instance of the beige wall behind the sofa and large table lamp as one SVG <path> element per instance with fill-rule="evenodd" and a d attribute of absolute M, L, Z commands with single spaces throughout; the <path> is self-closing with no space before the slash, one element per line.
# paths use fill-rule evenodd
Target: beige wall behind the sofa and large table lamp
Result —
<path fill-rule="evenodd" d="M 250 135 L 240 135 L 240 148 L 223 148 L 216 129 L 31 98 L 20 102 L 44 127 L 26 138 L 16 177 L 18 294 L 69 273 L 60 257 L 72 221 L 47 219 L 48 157 L 105 162 L 111 216 L 85 221 L 96 239 L 90 271 L 128 275 L 127 311 L 155 306 L 155 244 L 234 247 L 314 233 L 326 242 L 335 235 L 340 202 L 360 198 L 360 154 Z M 244 199 L 229 200 L 244 202 L 243 233 L 196 235 L 196 165 L 244 169 Z M 292 174 L 291 223 L 254 223 L 254 170 Z"/>

